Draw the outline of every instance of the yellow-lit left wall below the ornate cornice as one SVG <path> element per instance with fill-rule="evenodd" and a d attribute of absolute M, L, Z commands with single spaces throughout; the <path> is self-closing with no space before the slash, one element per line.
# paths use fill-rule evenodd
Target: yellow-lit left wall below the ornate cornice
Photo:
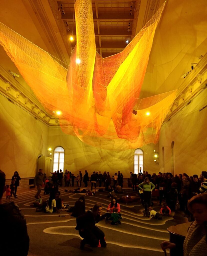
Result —
<path fill-rule="evenodd" d="M 1 82 L 1 81 L 0 81 Z M 34 177 L 39 154 L 47 153 L 48 126 L 0 94 L 0 169 Z"/>

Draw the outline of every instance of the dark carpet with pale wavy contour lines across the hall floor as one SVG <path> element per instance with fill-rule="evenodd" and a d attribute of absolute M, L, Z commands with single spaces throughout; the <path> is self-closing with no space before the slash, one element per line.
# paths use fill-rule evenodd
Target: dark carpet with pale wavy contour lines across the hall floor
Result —
<path fill-rule="evenodd" d="M 60 188 L 60 197 L 64 203 L 74 206 L 75 201 L 83 194 L 67 193 L 65 188 Z M 47 214 L 36 212 L 30 207 L 34 201 L 35 191 L 18 195 L 16 204 L 22 209 L 30 237 L 29 256 L 45 255 L 143 255 L 164 256 L 160 243 L 169 240 L 167 228 L 185 220 L 177 220 L 173 214 L 165 216 L 163 220 L 150 219 L 143 216 L 143 207 L 140 202 L 124 204 L 120 203 L 123 220 L 121 225 L 112 226 L 110 221 L 102 220 L 97 226 L 105 233 L 106 248 L 90 248 L 86 246 L 80 250 L 80 236 L 75 230 L 76 219 L 70 217 L 69 212 L 59 214 Z M 133 195 L 129 189 L 125 189 L 123 195 Z M 135 195 L 135 194 L 134 194 Z M 46 200 L 48 195 L 43 195 Z M 110 203 L 107 193 L 97 192 L 95 196 L 85 196 L 86 209 L 89 210 L 96 202 L 103 206 L 103 213 Z M 154 201 L 154 210 L 159 211 L 158 201 Z M 169 255 L 169 254 L 168 254 Z"/>

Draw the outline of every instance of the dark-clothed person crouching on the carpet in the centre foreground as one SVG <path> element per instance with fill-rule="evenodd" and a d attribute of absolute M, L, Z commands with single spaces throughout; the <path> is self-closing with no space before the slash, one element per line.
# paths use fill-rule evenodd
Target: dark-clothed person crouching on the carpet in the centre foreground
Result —
<path fill-rule="evenodd" d="M 98 247 L 99 240 L 101 247 L 106 247 L 106 241 L 104 239 L 104 233 L 100 230 L 96 223 L 105 218 L 105 215 L 101 216 L 102 205 L 97 203 L 92 208 L 92 211 L 87 211 L 84 215 L 79 216 L 76 219 L 76 230 L 83 238 L 80 242 L 80 249 L 83 250 L 85 244 L 89 244 L 91 247 Z"/>

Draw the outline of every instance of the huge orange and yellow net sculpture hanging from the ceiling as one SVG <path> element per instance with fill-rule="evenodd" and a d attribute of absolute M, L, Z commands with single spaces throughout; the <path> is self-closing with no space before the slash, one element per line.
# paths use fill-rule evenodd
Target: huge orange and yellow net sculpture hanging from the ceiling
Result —
<path fill-rule="evenodd" d="M 59 110 L 61 129 L 104 149 L 157 143 L 176 91 L 139 99 L 164 4 L 120 53 L 96 52 L 90 0 L 75 3 L 77 44 L 68 69 L 0 23 L 0 43 L 49 113 Z M 79 59 L 80 63 L 76 63 Z"/>

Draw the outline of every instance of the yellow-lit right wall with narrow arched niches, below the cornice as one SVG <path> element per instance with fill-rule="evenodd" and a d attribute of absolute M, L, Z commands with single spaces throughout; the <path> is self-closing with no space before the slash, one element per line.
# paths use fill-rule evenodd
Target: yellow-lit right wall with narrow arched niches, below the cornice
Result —
<path fill-rule="evenodd" d="M 171 142 L 174 141 L 174 174 L 201 174 L 207 170 L 207 89 L 162 125 L 159 151 L 164 147 L 165 172 L 171 170 Z M 163 164 L 162 154 L 160 166 Z M 163 168 L 161 168 L 163 171 Z"/>

